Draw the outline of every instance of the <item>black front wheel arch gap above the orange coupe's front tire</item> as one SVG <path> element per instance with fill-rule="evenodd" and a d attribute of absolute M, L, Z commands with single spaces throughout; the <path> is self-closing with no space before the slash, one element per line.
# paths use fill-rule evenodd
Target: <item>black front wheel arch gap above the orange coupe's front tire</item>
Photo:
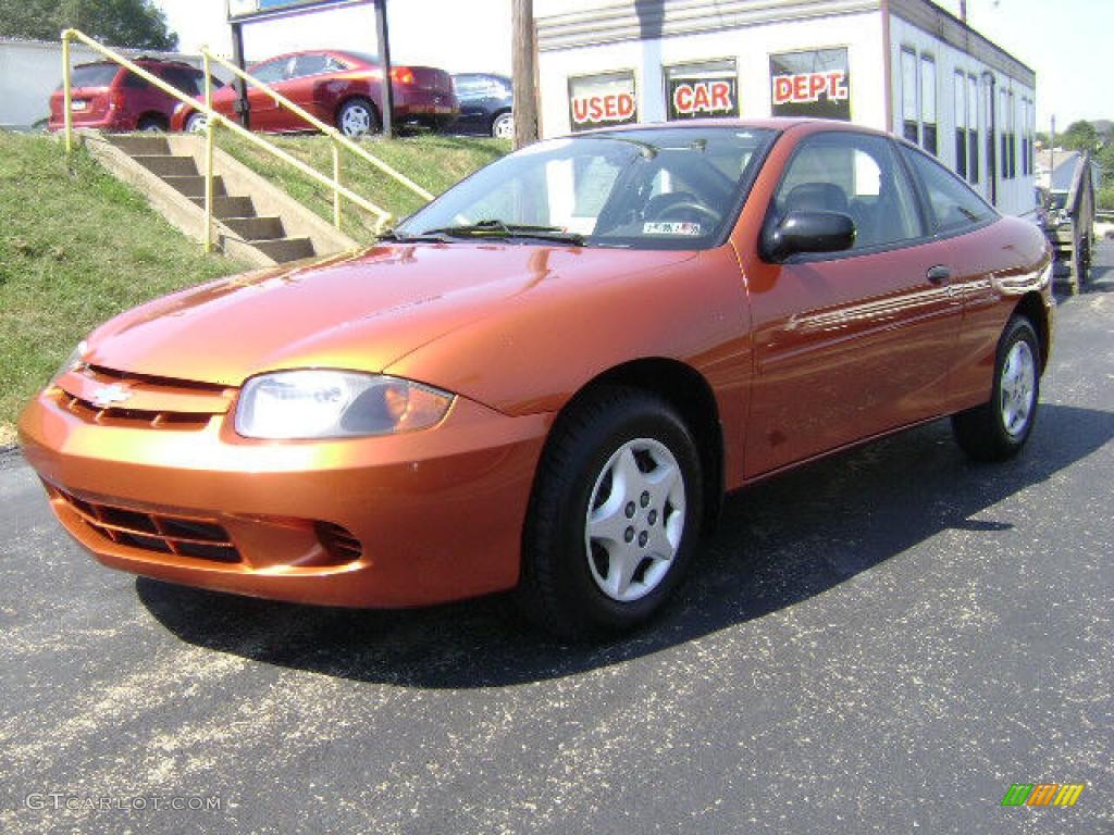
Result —
<path fill-rule="evenodd" d="M 561 406 L 554 421 L 573 412 L 595 392 L 608 386 L 637 389 L 663 397 L 681 415 L 700 453 L 704 488 L 704 530 L 711 531 L 724 495 L 723 429 L 715 394 L 704 375 L 691 365 L 667 357 L 644 357 L 615 365 L 585 383 Z M 555 435 L 550 431 L 549 436 Z M 547 441 L 548 444 L 548 441 Z"/>

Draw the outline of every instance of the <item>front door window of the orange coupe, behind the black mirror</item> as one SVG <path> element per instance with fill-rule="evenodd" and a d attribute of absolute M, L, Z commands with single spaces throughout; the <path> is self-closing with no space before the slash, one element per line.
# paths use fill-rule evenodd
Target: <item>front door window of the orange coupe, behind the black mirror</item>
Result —
<path fill-rule="evenodd" d="M 854 249 L 924 235 L 917 200 L 891 143 L 852 132 L 817 134 L 790 159 L 776 210 L 839 212 L 854 220 Z"/>

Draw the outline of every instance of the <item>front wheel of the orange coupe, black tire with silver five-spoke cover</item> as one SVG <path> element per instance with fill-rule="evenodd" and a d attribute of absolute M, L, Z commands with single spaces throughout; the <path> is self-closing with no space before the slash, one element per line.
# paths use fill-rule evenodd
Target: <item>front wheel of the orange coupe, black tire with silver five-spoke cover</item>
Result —
<path fill-rule="evenodd" d="M 675 465 L 680 479 L 670 481 L 680 482 L 683 492 L 676 493 L 674 487 L 670 497 L 656 495 L 648 502 L 642 501 L 642 487 L 635 488 L 637 502 L 626 501 L 625 493 L 613 493 L 615 479 L 620 477 L 613 474 L 617 470 L 609 464 L 624 450 L 632 451 L 638 478 L 673 473 Z M 628 544 L 617 539 L 612 543 L 634 554 L 626 563 L 634 569 L 627 572 L 624 593 L 642 595 L 636 599 L 620 600 L 605 591 L 618 563 L 599 542 L 589 544 L 589 503 L 598 501 L 603 491 L 608 493 L 607 503 L 615 499 L 614 507 L 623 509 L 614 513 L 617 524 L 627 525 L 631 519 L 629 530 L 635 531 L 633 539 L 624 531 Z M 681 510 L 673 504 L 678 498 Z M 700 540 L 703 501 L 700 455 L 676 411 L 639 390 L 599 390 L 558 421 L 546 445 L 522 536 L 522 576 L 516 591 L 519 609 L 543 629 L 574 640 L 614 636 L 638 626 L 684 577 Z M 633 518 L 632 504 L 641 505 Z M 604 508 L 597 504 L 597 510 Z M 682 525 L 680 534 L 677 524 Z M 672 559 L 651 556 L 655 542 L 668 546 L 670 537 L 677 536 Z M 620 573 L 616 570 L 615 577 Z"/>

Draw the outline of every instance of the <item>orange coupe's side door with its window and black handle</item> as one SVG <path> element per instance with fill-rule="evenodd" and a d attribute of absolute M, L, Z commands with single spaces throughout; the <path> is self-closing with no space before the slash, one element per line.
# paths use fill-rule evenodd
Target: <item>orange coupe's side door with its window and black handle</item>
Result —
<path fill-rule="evenodd" d="M 886 137 L 803 138 L 768 212 L 839 212 L 847 252 L 790 256 L 749 276 L 756 375 L 746 474 L 760 475 L 939 414 L 960 305 L 947 257 Z M 936 276 L 936 277 L 932 277 Z"/>

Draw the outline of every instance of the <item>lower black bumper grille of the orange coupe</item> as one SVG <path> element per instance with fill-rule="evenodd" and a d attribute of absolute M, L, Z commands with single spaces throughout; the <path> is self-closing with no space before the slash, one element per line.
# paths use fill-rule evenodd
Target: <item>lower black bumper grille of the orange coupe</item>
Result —
<path fill-rule="evenodd" d="M 62 500 L 84 524 L 116 544 L 177 557 L 240 562 L 236 546 L 214 520 L 148 513 L 86 501 L 51 484 L 47 490 Z"/>

